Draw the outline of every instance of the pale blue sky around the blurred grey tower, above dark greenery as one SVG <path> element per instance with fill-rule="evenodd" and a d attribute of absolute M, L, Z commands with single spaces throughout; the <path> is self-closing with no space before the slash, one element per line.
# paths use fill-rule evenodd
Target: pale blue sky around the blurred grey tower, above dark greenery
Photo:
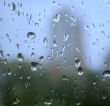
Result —
<path fill-rule="evenodd" d="M 50 54 L 49 43 L 52 42 L 49 23 L 53 21 L 57 11 L 67 8 L 71 14 L 77 14 L 83 23 L 82 41 L 87 57 L 85 65 L 94 70 L 104 68 L 104 62 L 110 52 L 109 0 L 55 0 L 55 3 L 54 0 L 5 1 L 4 6 L 4 0 L 0 0 L 0 17 L 3 19 L 0 21 L 0 48 L 5 57 L 10 54 L 11 59 L 16 58 L 19 52 L 22 52 L 27 60 L 36 60 L 41 55 L 47 57 Z M 14 11 L 12 3 L 16 5 Z M 34 32 L 36 38 L 27 38 L 28 32 Z M 47 44 L 43 43 L 44 38 L 48 39 Z M 31 57 L 32 52 L 35 53 L 34 58 Z"/>

